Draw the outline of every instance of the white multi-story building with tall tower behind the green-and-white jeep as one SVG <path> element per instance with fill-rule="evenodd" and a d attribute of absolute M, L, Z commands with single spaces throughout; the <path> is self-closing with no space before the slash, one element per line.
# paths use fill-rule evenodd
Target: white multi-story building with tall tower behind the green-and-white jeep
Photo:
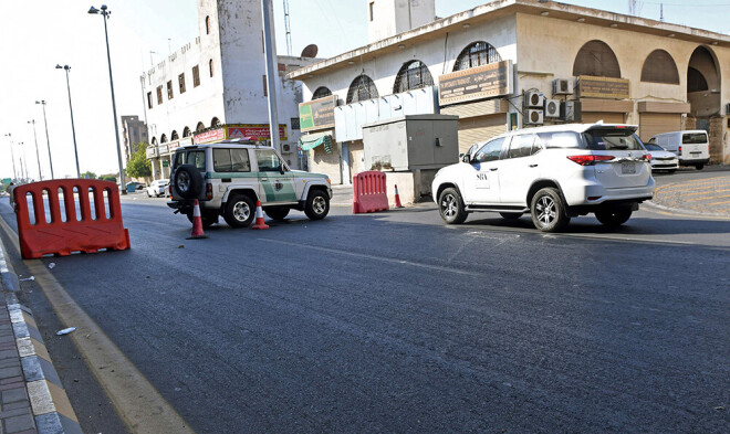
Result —
<path fill-rule="evenodd" d="M 199 36 L 143 76 L 153 177 L 169 178 L 181 145 L 234 137 L 270 140 L 260 0 L 198 0 Z M 310 57 L 278 56 L 279 149 L 299 168 L 301 82 L 284 75 Z"/>

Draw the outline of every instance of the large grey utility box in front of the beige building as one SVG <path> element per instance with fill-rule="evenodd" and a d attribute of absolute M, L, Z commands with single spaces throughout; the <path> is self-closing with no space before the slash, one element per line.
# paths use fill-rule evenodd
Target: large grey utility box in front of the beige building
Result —
<path fill-rule="evenodd" d="M 415 171 L 458 162 L 458 119 L 407 115 L 363 125 L 365 169 Z"/>

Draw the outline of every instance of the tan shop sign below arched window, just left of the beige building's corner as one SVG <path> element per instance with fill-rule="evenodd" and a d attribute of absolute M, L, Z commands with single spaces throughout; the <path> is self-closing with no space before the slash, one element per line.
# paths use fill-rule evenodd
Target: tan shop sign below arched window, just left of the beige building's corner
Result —
<path fill-rule="evenodd" d="M 512 61 L 444 74 L 438 82 L 441 106 L 509 95 L 513 92 Z"/>

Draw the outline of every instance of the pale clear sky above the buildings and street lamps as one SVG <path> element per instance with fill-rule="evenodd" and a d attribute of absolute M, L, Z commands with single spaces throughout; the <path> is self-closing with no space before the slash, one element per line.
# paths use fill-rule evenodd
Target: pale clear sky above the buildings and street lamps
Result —
<path fill-rule="evenodd" d="M 279 54 L 286 54 L 283 0 L 272 0 Z M 117 117 L 144 118 L 139 75 L 198 35 L 198 0 L 107 0 L 109 50 Z M 486 0 L 436 0 L 436 14 L 448 17 Z M 628 1 L 563 1 L 618 13 Z M 319 57 L 332 57 L 367 43 L 367 0 L 289 0 L 292 53 L 311 43 Z M 659 19 L 659 1 L 639 1 L 640 15 Z M 664 3 L 667 22 L 730 33 L 730 0 L 670 0 Z M 42 106 L 46 102 L 48 130 L 56 178 L 75 176 L 69 94 L 64 70 L 69 65 L 71 98 L 81 172 L 116 173 L 116 139 L 112 94 L 101 15 L 88 8 L 102 3 L 79 0 L 0 0 L 0 178 L 12 177 L 20 159 L 30 178 L 38 179 L 32 124 L 35 120 L 40 167 L 50 177 Z M 32 7 L 32 9 L 31 9 Z M 312 25 L 316 23 L 317 25 Z M 150 53 L 152 52 L 152 53 Z M 121 128 L 121 126 L 119 126 Z M 6 135 L 10 134 L 10 137 Z M 20 145 L 22 142 L 22 145 Z M 20 176 L 20 173 L 18 173 Z"/>

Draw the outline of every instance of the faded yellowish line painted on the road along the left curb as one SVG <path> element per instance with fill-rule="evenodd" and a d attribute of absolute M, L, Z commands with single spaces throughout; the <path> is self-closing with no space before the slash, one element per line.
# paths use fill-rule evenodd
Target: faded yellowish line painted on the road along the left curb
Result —
<path fill-rule="evenodd" d="M 2 218 L 0 227 L 20 252 L 18 234 Z M 129 431 L 149 434 L 195 433 L 104 330 L 66 293 L 46 269 L 45 264 L 41 260 L 24 263 L 61 322 L 65 327 L 76 327 L 76 332 L 69 335 L 71 340 Z"/>

